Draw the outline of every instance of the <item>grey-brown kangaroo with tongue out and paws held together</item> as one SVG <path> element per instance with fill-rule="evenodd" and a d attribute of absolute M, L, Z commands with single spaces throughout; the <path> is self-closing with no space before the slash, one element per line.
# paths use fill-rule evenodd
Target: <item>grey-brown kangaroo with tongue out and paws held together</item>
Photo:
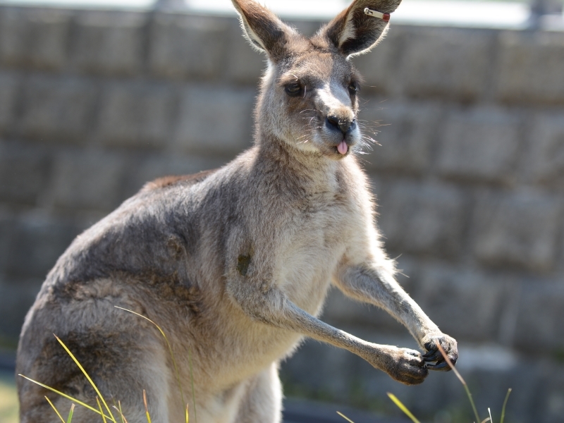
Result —
<path fill-rule="evenodd" d="M 456 362 L 442 333 L 394 279 L 357 153 L 360 75 L 350 57 L 379 42 L 400 0 L 355 0 L 311 38 L 252 0 L 232 0 L 245 37 L 268 58 L 255 143 L 226 166 L 145 185 L 79 235 L 56 262 L 20 337 L 17 372 L 128 422 L 181 422 L 179 383 L 198 423 L 281 422 L 278 362 L 304 337 L 359 355 L 403 384 Z M 218 116 L 219 118 L 219 116 Z M 356 338 L 317 319 L 333 284 L 386 309 L 423 353 Z M 193 389 L 192 389 L 193 386 Z M 20 421 L 56 419 L 68 400 L 19 378 Z M 99 422 L 78 407 L 73 423 Z"/>

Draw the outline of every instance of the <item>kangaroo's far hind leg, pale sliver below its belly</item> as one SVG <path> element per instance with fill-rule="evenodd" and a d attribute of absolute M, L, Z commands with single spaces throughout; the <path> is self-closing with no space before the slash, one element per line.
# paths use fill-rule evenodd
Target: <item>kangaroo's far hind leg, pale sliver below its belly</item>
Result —
<path fill-rule="evenodd" d="M 278 363 L 249 381 L 237 419 L 238 423 L 280 423 L 282 421 L 282 385 L 278 378 Z"/>

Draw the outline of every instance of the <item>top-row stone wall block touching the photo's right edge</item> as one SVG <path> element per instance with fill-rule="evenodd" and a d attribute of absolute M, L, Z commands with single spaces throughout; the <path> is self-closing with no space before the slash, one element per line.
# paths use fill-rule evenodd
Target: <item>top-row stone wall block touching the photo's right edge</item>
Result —
<path fill-rule="evenodd" d="M 527 105 L 564 104 L 562 32 L 502 32 L 498 57 L 498 99 Z"/>

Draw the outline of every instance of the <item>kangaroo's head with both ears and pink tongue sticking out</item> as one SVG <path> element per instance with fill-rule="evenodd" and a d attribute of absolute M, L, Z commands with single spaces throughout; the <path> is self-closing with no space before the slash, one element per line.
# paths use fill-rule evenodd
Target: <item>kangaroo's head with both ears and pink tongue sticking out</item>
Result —
<path fill-rule="evenodd" d="M 401 0 L 355 0 L 309 39 L 255 1 L 232 1 L 245 37 L 268 57 L 255 116 L 258 142 L 278 140 L 330 159 L 358 150 L 361 79 L 350 57 L 372 49 L 388 26 L 364 9 L 391 13 Z"/>

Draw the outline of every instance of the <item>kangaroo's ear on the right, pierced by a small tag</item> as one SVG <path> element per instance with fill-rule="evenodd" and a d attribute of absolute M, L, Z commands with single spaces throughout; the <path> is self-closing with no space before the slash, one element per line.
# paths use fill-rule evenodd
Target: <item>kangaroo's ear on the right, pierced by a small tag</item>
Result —
<path fill-rule="evenodd" d="M 321 31 L 345 56 L 367 53 L 387 30 L 388 22 L 364 13 L 365 8 L 391 13 L 401 0 L 355 0 Z"/>

